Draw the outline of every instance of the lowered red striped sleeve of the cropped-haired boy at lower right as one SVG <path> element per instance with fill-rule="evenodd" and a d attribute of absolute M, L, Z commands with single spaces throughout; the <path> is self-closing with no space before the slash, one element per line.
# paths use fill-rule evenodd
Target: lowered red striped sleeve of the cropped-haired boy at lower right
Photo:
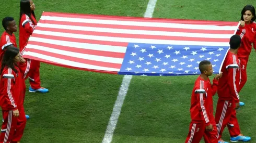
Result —
<path fill-rule="evenodd" d="M 196 95 L 196 99 L 197 99 L 197 107 L 199 108 L 200 114 L 201 114 L 201 118 L 204 121 L 204 123 L 206 124 L 206 126 L 210 125 L 210 120 L 209 120 L 209 116 L 206 112 L 206 108 L 205 108 L 205 100 L 206 100 L 206 92 L 205 89 L 203 89 L 202 87 L 200 88 L 195 88 L 195 95 Z"/>

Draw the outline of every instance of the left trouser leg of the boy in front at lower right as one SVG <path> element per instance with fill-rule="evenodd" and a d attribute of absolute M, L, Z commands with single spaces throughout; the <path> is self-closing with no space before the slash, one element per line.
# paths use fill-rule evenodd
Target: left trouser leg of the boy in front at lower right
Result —
<path fill-rule="evenodd" d="M 189 134 L 185 143 L 199 143 L 204 135 L 204 123 L 190 123 Z"/>

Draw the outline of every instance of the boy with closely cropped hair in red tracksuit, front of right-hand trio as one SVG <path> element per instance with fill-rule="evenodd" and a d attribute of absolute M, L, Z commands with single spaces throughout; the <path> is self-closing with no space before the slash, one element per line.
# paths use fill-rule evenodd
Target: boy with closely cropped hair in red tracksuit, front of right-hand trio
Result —
<path fill-rule="evenodd" d="M 218 79 L 222 73 L 217 74 L 211 84 L 208 76 L 213 74 L 210 61 L 199 63 L 201 75 L 196 79 L 191 97 L 191 119 L 188 137 L 185 143 L 198 143 L 204 137 L 208 143 L 217 143 L 217 128 L 213 115 L 213 98 L 217 92 Z"/>

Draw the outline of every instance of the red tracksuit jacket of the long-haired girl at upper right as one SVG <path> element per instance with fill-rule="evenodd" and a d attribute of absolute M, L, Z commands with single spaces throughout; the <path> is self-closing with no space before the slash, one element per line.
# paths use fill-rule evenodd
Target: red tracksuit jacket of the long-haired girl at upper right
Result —
<path fill-rule="evenodd" d="M 245 27 L 239 27 L 237 30 L 238 35 L 242 38 L 242 45 L 238 49 L 238 58 L 249 57 L 252 49 L 252 43 L 254 49 L 256 49 L 256 23 L 245 24 Z"/>

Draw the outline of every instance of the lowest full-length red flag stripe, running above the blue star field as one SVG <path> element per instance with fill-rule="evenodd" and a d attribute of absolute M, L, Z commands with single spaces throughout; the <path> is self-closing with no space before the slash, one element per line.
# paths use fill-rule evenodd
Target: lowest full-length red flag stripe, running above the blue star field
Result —
<path fill-rule="evenodd" d="M 55 29 L 55 28 L 43 28 L 43 27 L 38 27 L 37 30 L 81 34 L 81 35 L 95 35 L 95 36 L 122 37 L 122 38 L 145 38 L 145 39 L 152 39 L 152 40 L 177 40 L 177 41 L 200 41 L 200 42 L 228 42 L 229 41 L 229 38 L 203 38 L 203 37 L 123 34 L 123 33 L 80 31 L 80 30 L 67 30 L 67 29 Z"/>

